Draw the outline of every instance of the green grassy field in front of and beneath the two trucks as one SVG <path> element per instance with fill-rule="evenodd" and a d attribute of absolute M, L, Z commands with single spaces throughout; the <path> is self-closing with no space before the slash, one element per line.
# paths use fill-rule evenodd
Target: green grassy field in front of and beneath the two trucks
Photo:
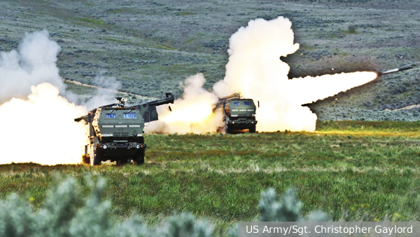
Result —
<path fill-rule="evenodd" d="M 322 122 L 315 133 L 147 135 L 145 165 L 0 165 L 0 197 L 40 208 L 59 173 L 107 180 L 115 217 L 149 222 L 192 212 L 218 223 L 254 220 L 260 192 L 297 189 L 303 211 L 332 220 L 420 219 L 420 123 Z"/>

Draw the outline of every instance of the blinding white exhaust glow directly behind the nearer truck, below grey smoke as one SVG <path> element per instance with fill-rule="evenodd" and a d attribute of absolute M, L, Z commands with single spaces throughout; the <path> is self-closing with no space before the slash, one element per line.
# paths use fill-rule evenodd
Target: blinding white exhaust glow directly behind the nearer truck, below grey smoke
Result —
<path fill-rule="evenodd" d="M 27 100 L 0 105 L 0 163 L 80 163 L 85 125 L 73 119 L 87 111 L 58 94 L 57 87 L 41 83 L 31 86 Z"/>

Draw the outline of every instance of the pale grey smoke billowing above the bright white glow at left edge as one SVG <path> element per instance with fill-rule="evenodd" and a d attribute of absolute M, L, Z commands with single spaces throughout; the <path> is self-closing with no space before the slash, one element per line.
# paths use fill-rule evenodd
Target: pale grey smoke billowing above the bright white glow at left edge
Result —
<path fill-rule="evenodd" d="M 31 86 L 48 82 L 64 92 L 55 64 L 61 47 L 48 39 L 48 32 L 25 34 L 18 51 L 0 52 L 0 104 L 13 97 L 25 98 Z"/>

